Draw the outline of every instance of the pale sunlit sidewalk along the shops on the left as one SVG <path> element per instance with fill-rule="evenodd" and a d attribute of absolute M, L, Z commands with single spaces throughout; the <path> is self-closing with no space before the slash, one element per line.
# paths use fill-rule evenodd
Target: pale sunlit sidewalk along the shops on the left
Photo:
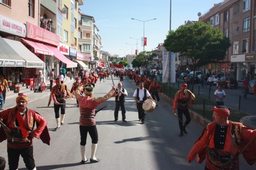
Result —
<path fill-rule="evenodd" d="M 74 82 L 74 79 L 72 80 L 69 79 L 67 82 L 65 82 L 69 90 L 71 89 L 73 82 Z M 46 86 L 49 86 L 49 85 L 50 85 L 50 82 L 46 82 Z M 53 84 L 53 86 L 54 85 L 55 84 Z M 25 94 L 27 97 L 29 97 L 29 102 L 35 101 L 38 98 L 50 96 L 50 89 L 47 89 L 47 88 L 45 89 L 45 92 L 34 93 L 34 90 L 30 90 L 30 88 L 26 88 L 26 85 L 22 86 L 20 84 L 19 86 L 20 86 L 19 93 L 14 93 L 14 90 L 9 90 L 9 92 L 6 92 L 5 105 L 3 106 L 5 109 L 9 109 L 16 105 L 15 99 L 18 97 L 19 94 Z"/>

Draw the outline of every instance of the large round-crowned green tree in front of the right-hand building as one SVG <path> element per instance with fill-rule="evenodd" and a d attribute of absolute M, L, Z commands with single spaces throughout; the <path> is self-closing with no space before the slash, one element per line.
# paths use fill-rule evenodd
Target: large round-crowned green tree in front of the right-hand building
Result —
<path fill-rule="evenodd" d="M 223 60 L 230 45 L 229 38 L 219 28 L 203 22 L 183 25 L 176 31 L 170 30 L 163 44 L 167 51 L 179 52 L 180 56 L 190 58 L 193 71 L 202 65 Z"/>

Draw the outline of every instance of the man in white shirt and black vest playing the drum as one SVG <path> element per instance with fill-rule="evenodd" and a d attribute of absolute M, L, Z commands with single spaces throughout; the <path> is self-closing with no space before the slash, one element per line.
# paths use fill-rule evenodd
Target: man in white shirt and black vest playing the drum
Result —
<path fill-rule="evenodd" d="M 140 82 L 139 83 L 139 88 L 137 88 L 134 93 L 133 93 L 133 97 L 137 103 L 137 110 L 138 110 L 138 114 L 139 114 L 139 121 L 141 121 L 142 124 L 145 123 L 145 117 L 146 114 L 143 110 L 142 104 L 143 102 L 147 99 L 150 98 L 153 102 L 154 99 L 150 96 L 149 91 L 147 91 L 147 89 L 144 88 L 144 83 Z"/>

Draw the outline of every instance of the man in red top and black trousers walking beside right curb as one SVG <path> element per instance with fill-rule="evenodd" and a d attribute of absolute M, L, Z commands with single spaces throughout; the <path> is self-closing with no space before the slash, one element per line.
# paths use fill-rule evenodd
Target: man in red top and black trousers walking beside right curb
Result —
<path fill-rule="evenodd" d="M 189 125 L 191 121 L 189 107 L 194 104 L 195 95 L 187 89 L 187 84 L 181 84 L 181 90 L 179 90 L 173 100 L 173 114 L 175 114 L 175 110 L 178 111 L 178 119 L 179 119 L 179 136 L 183 136 L 183 132 L 187 134 L 186 126 Z M 183 115 L 186 117 L 186 122 L 183 123 Z"/>

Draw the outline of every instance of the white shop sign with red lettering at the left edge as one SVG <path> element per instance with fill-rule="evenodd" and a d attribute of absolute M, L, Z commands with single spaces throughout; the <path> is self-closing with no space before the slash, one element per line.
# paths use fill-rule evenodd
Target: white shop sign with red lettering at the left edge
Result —
<path fill-rule="evenodd" d="M 18 35 L 21 37 L 26 36 L 25 24 L 19 23 L 10 18 L 0 15 L 0 31 L 7 32 L 9 34 Z"/>

